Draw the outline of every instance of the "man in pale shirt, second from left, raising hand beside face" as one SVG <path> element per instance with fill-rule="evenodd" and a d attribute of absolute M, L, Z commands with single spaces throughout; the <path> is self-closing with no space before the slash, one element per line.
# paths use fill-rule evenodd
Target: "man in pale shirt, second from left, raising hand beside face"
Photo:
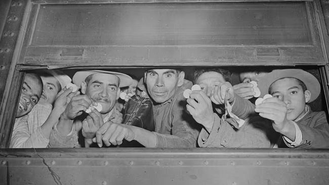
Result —
<path fill-rule="evenodd" d="M 64 88 L 71 78 L 57 70 L 38 73 L 43 81 L 43 93 L 38 103 L 26 115 L 26 119 L 15 122 L 11 148 L 46 148 L 53 125 L 65 109 L 71 89 Z M 56 96 L 60 90 L 61 95 Z M 55 104 L 54 104 L 55 103 Z M 54 104 L 54 109 L 53 105 Z M 64 108 L 63 108 L 64 107 Z"/>

